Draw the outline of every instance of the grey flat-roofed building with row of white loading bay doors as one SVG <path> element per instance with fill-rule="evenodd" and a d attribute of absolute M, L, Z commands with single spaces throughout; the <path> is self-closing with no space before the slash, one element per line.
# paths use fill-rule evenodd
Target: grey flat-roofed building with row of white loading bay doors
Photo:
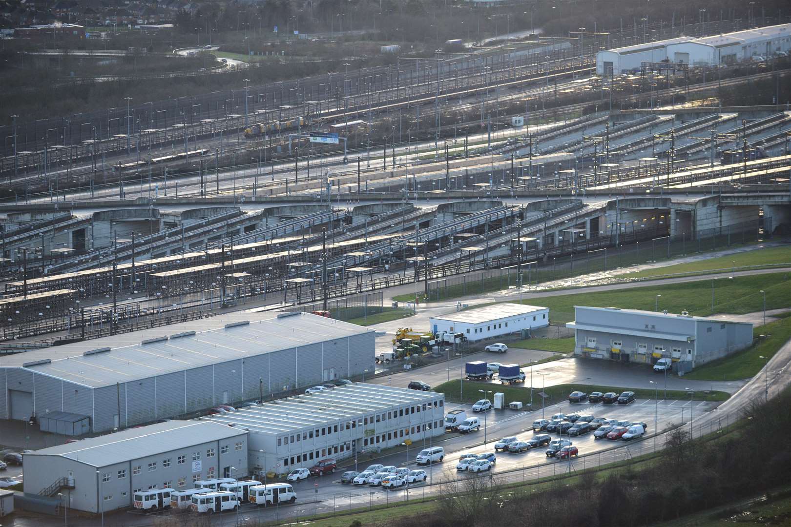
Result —
<path fill-rule="evenodd" d="M 574 354 L 632 363 L 673 361 L 679 373 L 752 344 L 752 324 L 688 314 L 574 306 Z"/>

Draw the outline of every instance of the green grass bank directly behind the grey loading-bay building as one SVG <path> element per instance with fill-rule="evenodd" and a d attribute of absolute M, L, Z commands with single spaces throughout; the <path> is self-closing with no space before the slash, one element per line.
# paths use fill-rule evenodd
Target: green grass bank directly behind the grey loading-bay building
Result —
<path fill-rule="evenodd" d="M 712 283 L 714 309 L 711 309 Z M 754 277 L 721 277 L 716 280 L 697 280 L 683 284 L 657 285 L 645 288 L 534 297 L 524 300 L 534 306 L 549 307 L 552 322 L 571 322 L 574 306 L 620 307 L 653 311 L 657 295 L 659 309 L 670 313 L 683 310 L 698 316 L 715 313 L 744 314 L 761 311 L 766 291 L 766 309 L 791 307 L 791 274 L 770 273 Z"/>

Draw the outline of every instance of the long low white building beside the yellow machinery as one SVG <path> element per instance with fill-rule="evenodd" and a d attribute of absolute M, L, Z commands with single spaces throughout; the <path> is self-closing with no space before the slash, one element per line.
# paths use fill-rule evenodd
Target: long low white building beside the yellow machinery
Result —
<path fill-rule="evenodd" d="M 549 326 L 549 307 L 496 303 L 431 317 L 429 323 L 434 334 L 464 333 L 468 341 L 481 341 Z"/>

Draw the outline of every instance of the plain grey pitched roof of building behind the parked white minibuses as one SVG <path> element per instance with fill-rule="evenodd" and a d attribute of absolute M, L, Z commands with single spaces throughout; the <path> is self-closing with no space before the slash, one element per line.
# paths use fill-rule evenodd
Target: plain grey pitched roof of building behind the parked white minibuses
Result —
<path fill-rule="evenodd" d="M 168 421 L 50 446 L 25 454 L 25 457 L 62 456 L 98 468 L 245 433 L 235 427 L 207 421 Z"/>

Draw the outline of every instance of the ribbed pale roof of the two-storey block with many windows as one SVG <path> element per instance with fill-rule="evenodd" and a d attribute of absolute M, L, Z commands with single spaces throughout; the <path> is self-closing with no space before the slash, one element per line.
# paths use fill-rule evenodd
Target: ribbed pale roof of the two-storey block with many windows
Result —
<path fill-rule="evenodd" d="M 337 423 L 339 420 L 361 419 L 372 412 L 387 412 L 401 405 L 422 404 L 437 397 L 441 397 L 441 393 L 354 382 L 321 393 L 286 397 L 201 419 L 248 431 L 279 434 L 324 423 Z"/>

